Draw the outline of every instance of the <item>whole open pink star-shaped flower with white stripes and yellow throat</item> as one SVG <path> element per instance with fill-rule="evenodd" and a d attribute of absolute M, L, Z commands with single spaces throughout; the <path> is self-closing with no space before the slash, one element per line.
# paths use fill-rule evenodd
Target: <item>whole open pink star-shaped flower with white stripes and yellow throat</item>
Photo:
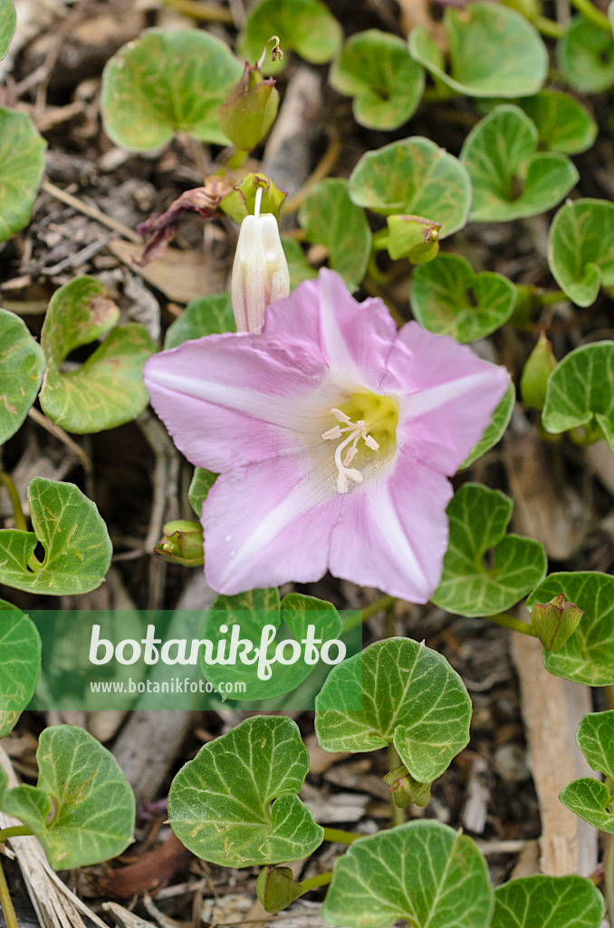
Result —
<path fill-rule="evenodd" d="M 150 358 L 151 402 L 185 457 L 220 473 L 205 571 L 235 594 L 326 570 L 426 602 L 448 542 L 446 479 L 503 397 L 505 368 L 357 303 L 322 270 L 267 309 L 262 334 Z"/>

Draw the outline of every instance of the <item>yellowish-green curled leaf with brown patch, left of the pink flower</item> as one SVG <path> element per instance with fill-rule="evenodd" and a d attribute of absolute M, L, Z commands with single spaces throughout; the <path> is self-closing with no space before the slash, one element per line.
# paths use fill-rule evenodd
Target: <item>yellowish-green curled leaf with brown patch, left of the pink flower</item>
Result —
<path fill-rule="evenodd" d="M 147 406 L 143 365 L 156 346 L 141 325 L 113 328 L 119 316 L 96 277 L 77 277 L 51 298 L 41 340 L 47 365 L 41 406 L 49 419 L 69 432 L 112 429 L 135 419 Z M 81 367 L 63 369 L 71 351 L 106 332 L 109 335 Z"/>

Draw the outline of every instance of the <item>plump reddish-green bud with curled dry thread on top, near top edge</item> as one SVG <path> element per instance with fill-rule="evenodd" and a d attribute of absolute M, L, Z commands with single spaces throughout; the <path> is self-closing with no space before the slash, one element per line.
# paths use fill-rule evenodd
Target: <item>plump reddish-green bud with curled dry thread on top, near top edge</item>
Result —
<path fill-rule="evenodd" d="M 273 78 L 262 77 L 260 65 L 245 62 L 245 71 L 218 112 L 222 132 L 242 151 L 251 151 L 267 134 L 277 115 L 279 94 Z"/>

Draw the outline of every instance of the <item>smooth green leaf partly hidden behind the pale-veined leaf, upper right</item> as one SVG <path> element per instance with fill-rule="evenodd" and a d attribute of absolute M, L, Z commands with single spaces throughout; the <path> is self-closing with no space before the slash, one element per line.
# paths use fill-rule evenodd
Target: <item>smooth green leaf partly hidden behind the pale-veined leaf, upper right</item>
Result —
<path fill-rule="evenodd" d="M 586 107 L 560 90 L 542 90 L 524 97 L 518 106 L 535 123 L 540 144 L 550 151 L 578 155 L 591 148 L 597 124 Z"/>

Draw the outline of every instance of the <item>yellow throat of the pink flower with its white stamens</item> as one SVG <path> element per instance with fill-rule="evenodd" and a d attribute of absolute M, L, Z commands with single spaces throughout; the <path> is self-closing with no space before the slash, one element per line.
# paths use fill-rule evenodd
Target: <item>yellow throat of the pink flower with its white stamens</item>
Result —
<path fill-rule="evenodd" d="M 347 493 L 351 480 L 363 482 L 361 471 L 350 467 L 355 458 L 362 458 L 358 463 L 368 463 L 366 455 L 379 452 L 382 457 L 389 458 L 396 449 L 399 405 L 391 396 L 365 390 L 352 393 L 339 408 L 329 412 L 337 419 L 337 424 L 324 432 L 322 438 L 339 441 L 335 449 L 337 489 L 339 493 Z"/>

